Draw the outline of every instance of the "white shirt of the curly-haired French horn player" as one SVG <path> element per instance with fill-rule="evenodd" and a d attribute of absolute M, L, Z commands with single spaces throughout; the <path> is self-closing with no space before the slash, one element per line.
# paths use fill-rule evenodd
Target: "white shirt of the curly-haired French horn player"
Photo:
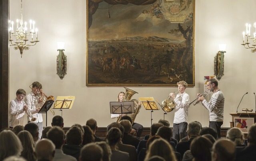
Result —
<path fill-rule="evenodd" d="M 176 104 L 174 108 L 174 124 L 188 122 L 188 103 L 190 102 L 189 95 L 186 92 L 177 94 L 174 98 Z"/>

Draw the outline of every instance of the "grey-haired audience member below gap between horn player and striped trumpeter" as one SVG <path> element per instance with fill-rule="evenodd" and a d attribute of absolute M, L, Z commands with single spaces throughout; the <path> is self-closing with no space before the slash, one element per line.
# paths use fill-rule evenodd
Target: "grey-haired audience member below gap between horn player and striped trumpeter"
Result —
<path fill-rule="evenodd" d="M 198 122 L 190 122 L 188 124 L 188 141 L 182 141 L 177 144 L 176 151 L 180 153 L 181 158 L 183 157 L 185 151 L 190 149 L 190 144 L 192 140 L 199 136 L 202 126 Z"/>

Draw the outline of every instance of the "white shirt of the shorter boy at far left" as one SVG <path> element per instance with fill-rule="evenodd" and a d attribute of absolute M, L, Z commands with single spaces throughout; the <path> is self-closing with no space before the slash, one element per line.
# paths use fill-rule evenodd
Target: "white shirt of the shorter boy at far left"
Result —
<path fill-rule="evenodd" d="M 10 126 L 23 125 L 25 114 L 23 111 L 24 103 L 24 101 L 18 102 L 16 98 L 10 102 Z"/>

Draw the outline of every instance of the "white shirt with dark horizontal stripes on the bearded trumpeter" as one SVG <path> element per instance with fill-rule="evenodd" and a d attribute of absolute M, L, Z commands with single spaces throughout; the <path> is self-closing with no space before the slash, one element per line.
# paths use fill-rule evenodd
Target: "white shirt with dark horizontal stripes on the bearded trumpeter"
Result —
<path fill-rule="evenodd" d="M 218 90 L 212 94 L 212 98 L 209 102 L 206 100 L 202 101 L 203 106 L 209 110 L 210 121 L 223 122 L 224 100 L 224 94 L 221 90 Z"/>

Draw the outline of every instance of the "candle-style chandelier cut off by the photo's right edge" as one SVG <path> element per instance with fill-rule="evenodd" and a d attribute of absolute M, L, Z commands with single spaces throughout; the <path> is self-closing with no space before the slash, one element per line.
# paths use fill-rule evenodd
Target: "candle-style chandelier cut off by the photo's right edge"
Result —
<path fill-rule="evenodd" d="M 256 22 L 254 22 L 253 27 L 256 29 Z M 244 45 L 246 49 L 251 49 L 251 52 L 256 52 L 256 30 L 253 33 L 253 36 L 250 35 L 251 32 L 251 24 L 246 24 L 246 33 L 243 32 L 243 43 L 241 45 Z M 244 42 L 244 37 L 246 36 L 246 43 Z M 253 44 L 250 46 L 250 39 L 252 40 Z"/>

